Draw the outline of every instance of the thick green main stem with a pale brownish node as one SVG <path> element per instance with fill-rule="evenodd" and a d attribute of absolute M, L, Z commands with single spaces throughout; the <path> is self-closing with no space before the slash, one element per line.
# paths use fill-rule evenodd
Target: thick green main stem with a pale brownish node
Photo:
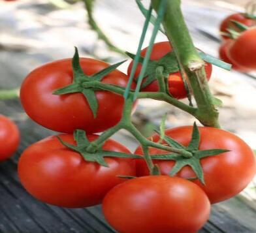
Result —
<path fill-rule="evenodd" d="M 155 10 L 158 9 L 160 1 L 152 0 Z M 180 5 L 180 0 L 167 1 L 163 26 L 193 90 L 198 106 L 197 119 L 203 125 L 219 127 L 219 114 L 214 106 L 214 97 L 210 93 L 204 72 L 204 61 L 193 45 Z"/>

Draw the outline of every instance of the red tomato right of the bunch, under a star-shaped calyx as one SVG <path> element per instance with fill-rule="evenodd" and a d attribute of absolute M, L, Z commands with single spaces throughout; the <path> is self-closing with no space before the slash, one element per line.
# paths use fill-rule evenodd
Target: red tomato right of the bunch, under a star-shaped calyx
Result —
<path fill-rule="evenodd" d="M 191 126 L 177 127 L 168 129 L 165 134 L 180 142 L 180 144 L 188 146 L 191 140 L 192 128 Z M 238 136 L 228 131 L 211 127 L 199 127 L 199 132 L 199 149 L 229 149 L 231 151 L 201 159 L 206 185 L 202 185 L 199 179 L 194 182 L 205 191 L 212 203 L 221 202 L 240 193 L 255 176 L 256 163 L 251 148 Z M 154 134 L 152 140 L 157 142 L 159 136 Z M 163 153 L 167 152 L 150 148 L 150 154 Z M 135 154 L 142 155 L 142 149 L 137 148 Z M 161 174 L 169 174 L 175 163 L 174 161 L 157 160 L 153 162 L 159 165 Z M 136 161 L 136 172 L 137 176 L 148 175 L 144 160 L 138 159 Z M 190 166 L 185 166 L 178 172 L 177 176 L 195 178 L 195 173 Z"/>

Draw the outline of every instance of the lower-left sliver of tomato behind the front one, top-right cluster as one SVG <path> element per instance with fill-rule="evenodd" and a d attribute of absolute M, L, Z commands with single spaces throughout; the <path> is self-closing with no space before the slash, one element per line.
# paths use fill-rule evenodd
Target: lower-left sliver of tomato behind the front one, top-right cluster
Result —
<path fill-rule="evenodd" d="M 246 69 L 246 67 L 241 67 L 240 65 L 234 64 L 231 59 L 228 57 L 229 48 L 232 44 L 232 40 L 225 40 L 219 47 L 219 58 L 227 63 L 230 63 L 232 65 L 232 69 L 238 70 L 241 72 L 248 72 L 249 69 Z"/>

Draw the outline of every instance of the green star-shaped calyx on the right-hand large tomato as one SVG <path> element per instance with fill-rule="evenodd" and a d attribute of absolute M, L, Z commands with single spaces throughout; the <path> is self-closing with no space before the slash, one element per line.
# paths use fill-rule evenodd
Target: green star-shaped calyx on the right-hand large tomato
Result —
<path fill-rule="evenodd" d="M 159 132 L 159 131 L 157 131 Z M 228 152 L 227 149 L 207 149 L 207 150 L 199 150 L 200 144 L 200 133 L 197 125 L 194 123 L 193 132 L 191 136 L 191 141 L 189 142 L 189 146 L 183 146 L 179 142 L 176 142 L 169 136 L 164 136 L 163 140 L 171 146 L 172 148 L 184 149 L 185 151 L 189 151 L 193 156 L 185 157 L 184 155 L 179 155 L 177 153 L 170 153 L 164 155 L 151 155 L 153 160 L 173 160 L 175 161 L 175 165 L 170 171 L 170 176 L 174 176 L 177 174 L 184 166 L 190 166 L 192 170 L 195 172 L 197 178 L 200 180 L 202 184 L 205 185 L 204 182 L 204 173 L 202 171 L 202 165 L 200 164 L 200 160 L 206 157 L 219 155 L 221 153 Z M 194 179 L 194 178 L 193 178 Z"/>

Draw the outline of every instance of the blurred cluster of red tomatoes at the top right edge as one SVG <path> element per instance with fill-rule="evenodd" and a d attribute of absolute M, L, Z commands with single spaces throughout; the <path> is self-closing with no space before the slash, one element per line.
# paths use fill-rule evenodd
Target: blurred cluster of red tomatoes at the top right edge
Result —
<path fill-rule="evenodd" d="M 236 13 L 225 18 L 219 27 L 223 42 L 219 57 L 232 64 L 240 72 L 256 70 L 256 25 L 255 17 Z"/>

